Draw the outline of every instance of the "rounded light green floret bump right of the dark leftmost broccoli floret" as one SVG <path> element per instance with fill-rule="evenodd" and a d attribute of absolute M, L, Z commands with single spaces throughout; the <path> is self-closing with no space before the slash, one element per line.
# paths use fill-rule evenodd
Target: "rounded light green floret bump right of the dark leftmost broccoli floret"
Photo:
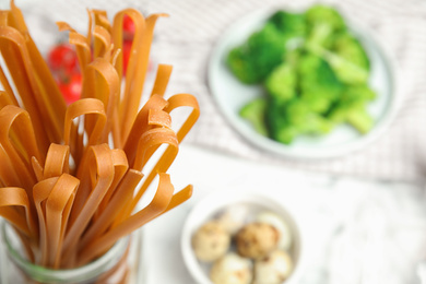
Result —
<path fill-rule="evenodd" d="M 270 96 L 285 103 L 296 96 L 297 73 L 289 63 L 282 63 L 265 80 L 264 86 Z"/>

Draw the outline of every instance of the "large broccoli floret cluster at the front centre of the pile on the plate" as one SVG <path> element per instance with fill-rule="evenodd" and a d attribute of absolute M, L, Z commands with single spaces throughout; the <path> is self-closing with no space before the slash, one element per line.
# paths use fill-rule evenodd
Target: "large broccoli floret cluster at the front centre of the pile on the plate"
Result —
<path fill-rule="evenodd" d="M 300 134 L 328 133 L 322 114 L 344 90 L 330 66 L 307 51 L 291 56 L 267 79 L 267 123 L 272 139 L 288 144 Z"/>

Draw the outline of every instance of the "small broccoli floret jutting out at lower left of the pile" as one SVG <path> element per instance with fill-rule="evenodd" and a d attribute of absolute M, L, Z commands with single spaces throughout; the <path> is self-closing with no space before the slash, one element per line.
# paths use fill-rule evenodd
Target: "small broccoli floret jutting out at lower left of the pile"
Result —
<path fill-rule="evenodd" d="M 268 129 L 265 126 L 267 100 L 264 98 L 257 98 L 246 104 L 239 111 L 239 116 L 247 119 L 255 130 L 267 137 Z"/>

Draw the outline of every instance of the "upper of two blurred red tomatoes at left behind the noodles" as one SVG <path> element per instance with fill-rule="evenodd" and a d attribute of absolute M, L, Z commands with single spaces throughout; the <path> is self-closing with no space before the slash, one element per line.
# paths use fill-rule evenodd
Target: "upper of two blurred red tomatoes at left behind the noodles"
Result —
<path fill-rule="evenodd" d="M 48 63 L 52 71 L 71 73 L 78 66 L 75 50 L 69 44 L 59 44 L 49 51 Z"/>

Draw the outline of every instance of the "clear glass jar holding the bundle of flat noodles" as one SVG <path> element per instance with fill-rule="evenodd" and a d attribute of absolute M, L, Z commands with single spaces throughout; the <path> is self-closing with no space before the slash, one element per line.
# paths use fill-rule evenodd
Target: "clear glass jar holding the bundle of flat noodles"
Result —
<path fill-rule="evenodd" d="M 2 284 L 140 284 L 143 283 L 142 232 L 120 239 L 104 256 L 76 269 L 51 270 L 29 262 L 13 228 L 0 220 Z"/>

